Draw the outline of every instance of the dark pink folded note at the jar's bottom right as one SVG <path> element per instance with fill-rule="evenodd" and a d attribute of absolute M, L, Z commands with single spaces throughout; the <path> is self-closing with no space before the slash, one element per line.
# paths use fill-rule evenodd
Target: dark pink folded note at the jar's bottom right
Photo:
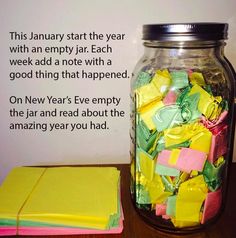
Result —
<path fill-rule="evenodd" d="M 222 191 L 218 189 L 215 192 L 210 192 L 207 194 L 201 224 L 204 224 L 209 219 L 213 218 L 219 211 L 222 201 Z"/>

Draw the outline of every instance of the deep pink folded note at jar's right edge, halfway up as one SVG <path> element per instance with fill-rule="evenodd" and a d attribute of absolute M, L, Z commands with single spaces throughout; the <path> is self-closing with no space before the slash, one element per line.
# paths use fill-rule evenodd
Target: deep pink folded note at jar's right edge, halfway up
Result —
<path fill-rule="evenodd" d="M 227 152 L 228 126 L 216 126 L 212 130 L 211 149 L 208 160 L 211 163 Z"/>

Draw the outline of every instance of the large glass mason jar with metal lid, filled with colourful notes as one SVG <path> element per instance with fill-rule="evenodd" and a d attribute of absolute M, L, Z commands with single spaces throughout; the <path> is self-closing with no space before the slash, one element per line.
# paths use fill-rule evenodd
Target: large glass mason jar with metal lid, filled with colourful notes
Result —
<path fill-rule="evenodd" d="M 131 92 L 131 194 L 157 229 L 188 233 L 225 204 L 234 137 L 228 25 L 144 25 Z"/>

